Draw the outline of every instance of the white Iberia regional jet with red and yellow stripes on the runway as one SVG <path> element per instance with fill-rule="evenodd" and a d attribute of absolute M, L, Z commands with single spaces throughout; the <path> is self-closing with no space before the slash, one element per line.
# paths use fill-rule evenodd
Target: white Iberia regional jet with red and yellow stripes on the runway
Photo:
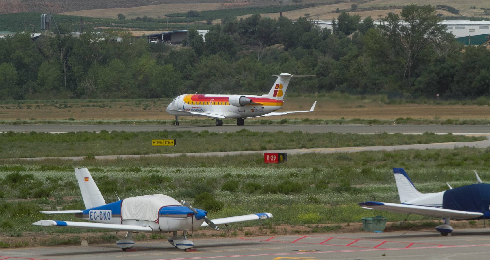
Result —
<path fill-rule="evenodd" d="M 179 125 L 179 116 L 215 118 L 216 126 L 223 125 L 222 118 L 236 118 L 237 125 L 244 125 L 245 118 L 269 117 L 291 113 L 313 112 L 310 110 L 281 111 L 284 94 L 292 77 L 314 75 L 292 75 L 281 73 L 267 95 L 179 95 L 167 107 L 167 113 L 175 116 L 174 125 Z"/>

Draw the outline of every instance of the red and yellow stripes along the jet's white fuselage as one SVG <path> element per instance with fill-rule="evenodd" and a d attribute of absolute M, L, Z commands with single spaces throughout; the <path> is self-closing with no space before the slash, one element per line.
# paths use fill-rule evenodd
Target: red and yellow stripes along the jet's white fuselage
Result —
<path fill-rule="evenodd" d="M 282 106 L 283 101 L 269 97 L 246 96 L 252 99 L 253 103 L 259 103 L 261 106 Z M 229 96 L 206 96 L 206 95 L 185 95 L 184 102 L 189 105 L 230 105 Z M 210 102 L 213 102 L 212 104 Z M 257 104 L 246 104 L 246 106 L 257 106 Z"/>

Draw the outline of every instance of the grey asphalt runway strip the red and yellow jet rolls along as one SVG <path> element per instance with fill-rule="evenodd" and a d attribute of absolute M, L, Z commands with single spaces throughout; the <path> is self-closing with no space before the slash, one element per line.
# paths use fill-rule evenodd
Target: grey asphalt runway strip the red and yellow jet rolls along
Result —
<path fill-rule="evenodd" d="M 246 122 L 245 122 L 246 123 Z M 247 129 L 257 132 L 293 132 L 303 131 L 309 133 L 405 133 L 405 134 L 419 134 L 424 132 L 433 132 L 437 134 L 476 134 L 476 135 L 490 135 L 490 125 L 346 125 L 346 124 L 307 124 L 307 125 L 56 125 L 56 124 L 28 124 L 28 125 L 0 125 L 0 132 L 50 132 L 50 133 L 64 133 L 64 132 L 77 132 L 77 131 L 89 131 L 99 132 L 101 129 L 107 131 L 126 131 L 126 132 L 140 132 L 140 131 L 162 131 L 162 130 L 176 130 L 176 131 L 194 131 L 200 132 L 207 130 L 210 132 L 235 132 L 241 129 Z"/>

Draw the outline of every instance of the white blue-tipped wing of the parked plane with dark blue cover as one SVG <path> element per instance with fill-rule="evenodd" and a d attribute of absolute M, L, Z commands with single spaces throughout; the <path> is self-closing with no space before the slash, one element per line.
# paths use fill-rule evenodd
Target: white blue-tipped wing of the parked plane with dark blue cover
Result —
<path fill-rule="evenodd" d="M 359 206 L 369 210 L 380 210 L 380 211 L 388 211 L 388 212 L 402 213 L 402 214 L 413 213 L 417 215 L 425 215 L 425 216 L 432 216 L 432 217 L 450 217 L 455 220 L 470 219 L 483 215 L 483 213 L 479 213 L 479 212 L 455 211 L 455 210 L 441 209 L 441 208 L 430 207 L 430 206 L 397 204 L 397 203 L 376 202 L 376 201 L 362 202 L 359 203 Z"/>

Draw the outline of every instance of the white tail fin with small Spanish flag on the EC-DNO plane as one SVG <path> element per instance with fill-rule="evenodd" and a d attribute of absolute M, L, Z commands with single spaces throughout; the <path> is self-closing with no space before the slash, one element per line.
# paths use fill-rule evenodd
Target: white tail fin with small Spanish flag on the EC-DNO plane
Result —
<path fill-rule="evenodd" d="M 98 190 L 98 187 L 87 168 L 75 168 L 75 176 L 86 209 L 105 205 L 104 197 L 102 197 L 100 190 Z"/>

